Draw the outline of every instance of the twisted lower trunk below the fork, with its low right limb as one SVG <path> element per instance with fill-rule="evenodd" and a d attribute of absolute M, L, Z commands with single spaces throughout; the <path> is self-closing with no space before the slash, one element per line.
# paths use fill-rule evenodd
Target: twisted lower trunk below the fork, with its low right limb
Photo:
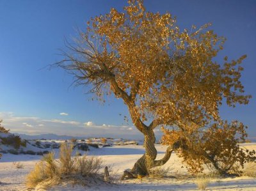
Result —
<path fill-rule="evenodd" d="M 164 165 L 172 155 L 172 147 L 168 147 L 164 157 L 161 160 L 155 160 L 157 150 L 155 147 L 156 137 L 152 129 L 144 133 L 145 154 L 134 164 L 131 171 L 124 171 L 121 180 L 125 178 L 138 178 L 138 176 L 147 176 L 149 170 L 153 167 Z"/>

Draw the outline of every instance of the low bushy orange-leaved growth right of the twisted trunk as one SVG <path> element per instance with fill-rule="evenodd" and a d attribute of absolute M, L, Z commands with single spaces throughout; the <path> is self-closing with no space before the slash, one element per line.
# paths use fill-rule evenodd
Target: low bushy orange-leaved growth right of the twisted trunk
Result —
<path fill-rule="evenodd" d="M 246 162 L 256 159 L 255 151 L 238 143 L 247 137 L 243 123 L 227 121 L 212 123 L 209 128 L 190 126 L 186 130 L 164 130 L 163 143 L 179 142 L 177 155 L 188 165 L 189 172 L 198 174 L 205 166 L 220 174 L 239 174 Z"/>

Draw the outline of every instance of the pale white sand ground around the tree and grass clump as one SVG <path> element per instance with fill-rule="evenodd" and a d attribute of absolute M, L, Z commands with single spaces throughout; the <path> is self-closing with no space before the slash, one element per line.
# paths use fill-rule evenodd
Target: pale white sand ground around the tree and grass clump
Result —
<path fill-rule="evenodd" d="M 243 144 L 248 149 L 256 149 L 256 143 Z M 166 147 L 156 145 L 159 151 L 158 158 L 163 157 Z M 57 152 L 57 151 L 56 151 Z M 127 145 L 127 146 L 113 146 L 109 148 L 91 149 L 88 155 L 99 155 L 102 157 L 105 165 L 113 166 L 111 176 L 118 178 L 121 176 L 124 169 L 132 168 L 132 165 L 144 153 L 143 146 Z M 0 160 L 0 190 L 26 190 L 24 181 L 26 174 L 28 174 L 40 156 L 34 155 L 11 155 L 4 154 Z M 13 162 L 20 161 L 23 169 L 16 169 Z M 79 185 L 72 186 L 69 183 L 63 183 L 50 190 L 198 190 L 194 178 L 182 178 L 187 174 L 184 164 L 180 158 L 173 153 L 170 160 L 163 166 L 170 167 L 170 177 L 167 178 L 143 178 L 143 180 L 125 180 L 114 181 L 113 185 L 105 184 L 89 184 L 90 187 L 82 187 Z M 180 178 L 173 178 L 173 176 Z M 40 190 L 40 187 L 37 188 Z M 237 178 L 221 178 L 212 179 L 209 183 L 207 190 L 256 190 L 256 179 L 248 176 Z"/>

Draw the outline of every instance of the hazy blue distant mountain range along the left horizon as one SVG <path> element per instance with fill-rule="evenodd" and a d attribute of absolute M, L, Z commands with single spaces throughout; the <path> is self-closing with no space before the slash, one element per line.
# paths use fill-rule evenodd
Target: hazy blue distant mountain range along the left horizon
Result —
<path fill-rule="evenodd" d="M 73 136 L 68 136 L 68 135 L 56 135 L 56 134 L 42 134 L 42 135 L 26 135 L 26 134 L 15 134 L 19 135 L 20 138 L 22 139 L 55 139 L 55 140 L 67 140 L 67 139 L 85 139 L 85 137 L 73 137 Z"/>

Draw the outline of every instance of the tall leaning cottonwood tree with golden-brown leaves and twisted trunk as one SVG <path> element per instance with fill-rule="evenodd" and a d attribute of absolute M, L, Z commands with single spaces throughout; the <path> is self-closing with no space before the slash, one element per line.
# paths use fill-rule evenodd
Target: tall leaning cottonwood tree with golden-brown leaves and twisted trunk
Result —
<path fill-rule="evenodd" d="M 225 38 L 205 24 L 180 31 L 170 13 L 145 11 L 142 0 L 128 1 L 124 11 L 112 8 L 92 18 L 79 32 L 71 51 L 56 65 L 74 75 L 78 85 L 90 87 L 97 98 L 113 94 L 127 105 L 134 126 L 144 135 L 145 154 L 125 176 L 138 177 L 165 164 L 180 141 L 156 160 L 154 129 L 218 119 L 218 107 L 248 103 L 239 80 L 239 64 L 246 57 L 220 65 L 213 61 Z"/>

